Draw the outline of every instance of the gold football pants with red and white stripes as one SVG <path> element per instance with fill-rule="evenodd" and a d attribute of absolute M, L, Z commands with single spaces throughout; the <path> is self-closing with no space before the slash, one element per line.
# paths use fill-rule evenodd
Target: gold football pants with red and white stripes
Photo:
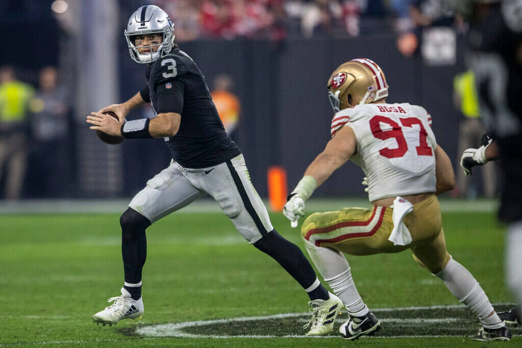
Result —
<path fill-rule="evenodd" d="M 394 227 L 392 215 L 393 209 L 379 206 L 314 213 L 304 221 L 301 235 L 316 246 L 357 256 L 411 249 L 420 266 L 432 273 L 443 270 L 449 254 L 437 197 L 433 195 L 417 203 L 404 218 L 412 237 L 409 245 L 394 245 L 388 241 Z"/>

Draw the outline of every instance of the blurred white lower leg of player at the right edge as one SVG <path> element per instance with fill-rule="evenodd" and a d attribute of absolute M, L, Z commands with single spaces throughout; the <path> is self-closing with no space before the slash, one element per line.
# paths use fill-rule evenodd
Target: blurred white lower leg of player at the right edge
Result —
<path fill-rule="evenodd" d="M 522 221 L 512 223 L 506 233 L 505 272 L 506 283 L 515 296 L 517 303 L 522 303 Z"/>

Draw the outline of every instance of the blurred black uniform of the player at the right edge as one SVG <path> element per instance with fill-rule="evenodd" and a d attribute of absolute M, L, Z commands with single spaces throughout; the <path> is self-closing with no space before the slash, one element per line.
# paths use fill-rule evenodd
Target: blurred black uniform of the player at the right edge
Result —
<path fill-rule="evenodd" d="M 499 218 L 522 220 L 522 15 L 518 2 L 490 5 L 470 26 L 471 67 L 480 113 L 499 145 L 503 187 Z"/>

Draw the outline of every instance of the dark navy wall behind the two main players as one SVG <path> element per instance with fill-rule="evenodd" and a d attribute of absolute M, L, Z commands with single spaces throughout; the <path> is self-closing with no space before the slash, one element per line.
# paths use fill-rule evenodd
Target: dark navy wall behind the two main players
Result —
<path fill-rule="evenodd" d="M 289 189 L 330 138 L 333 112 L 326 82 L 331 72 L 352 58 L 367 57 L 379 64 L 388 81 L 388 102 L 420 104 L 433 117 L 437 142 L 455 163 L 458 113 L 452 101 L 457 66 L 424 66 L 419 56 L 405 58 L 391 35 L 355 39 L 270 41 L 197 41 L 180 49 L 190 55 L 211 88 L 218 74 L 229 74 L 242 103 L 241 121 L 232 134 L 243 150 L 252 182 L 267 196 L 266 172 L 282 165 Z M 145 66 L 121 52 L 122 100 L 145 85 Z M 143 117 L 134 111 L 129 118 Z M 169 164 L 162 140 L 126 141 L 124 196 L 134 195 L 146 180 Z M 317 196 L 363 196 L 363 173 L 352 163 L 343 166 L 321 186 Z"/>

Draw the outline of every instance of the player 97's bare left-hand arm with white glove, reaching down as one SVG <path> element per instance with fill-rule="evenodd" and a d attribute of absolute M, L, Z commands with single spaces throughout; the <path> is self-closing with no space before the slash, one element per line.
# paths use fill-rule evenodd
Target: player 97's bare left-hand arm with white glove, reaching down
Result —
<path fill-rule="evenodd" d="M 333 172 L 350 159 L 355 149 L 357 149 L 357 139 L 353 130 L 350 127 L 342 127 L 334 138 L 328 141 L 324 151 L 310 163 L 283 208 L 283 214 L 290 220 L 292 227 L 297 227 L 299 218 L 304 215 L 304 202 L 310 198 L 317 186 L 323 184 Z"/>

